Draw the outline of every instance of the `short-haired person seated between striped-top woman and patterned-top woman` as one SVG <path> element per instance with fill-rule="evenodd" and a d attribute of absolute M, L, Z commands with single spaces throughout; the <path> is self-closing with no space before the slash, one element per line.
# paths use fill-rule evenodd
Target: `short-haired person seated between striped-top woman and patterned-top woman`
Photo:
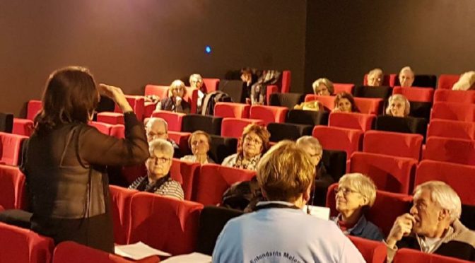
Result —
<path fill-rule="evenodd" d="M 213 159 L 209 158 L 209 144 L 211 137 L 204 131 L 194 131 L 188 138 L 188 146 L 192 149 L 192 153 L 188 156 L 183 156 L 181 160 L 196 162 L 201 164 L 214 163 Z"/>

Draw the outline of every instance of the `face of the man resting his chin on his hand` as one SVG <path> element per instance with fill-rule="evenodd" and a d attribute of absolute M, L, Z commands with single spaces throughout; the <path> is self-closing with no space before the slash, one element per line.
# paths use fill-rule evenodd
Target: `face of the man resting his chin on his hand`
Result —
<path fill-rule="evenodd" d="M 430 199 L 430 190 L 422 189 L 414 196 L 414 204 L 409 213 L 414 216 L 412 230 L 418 235 L 430 235 L 439 227 L 439 216 L 442 209 Z"/>

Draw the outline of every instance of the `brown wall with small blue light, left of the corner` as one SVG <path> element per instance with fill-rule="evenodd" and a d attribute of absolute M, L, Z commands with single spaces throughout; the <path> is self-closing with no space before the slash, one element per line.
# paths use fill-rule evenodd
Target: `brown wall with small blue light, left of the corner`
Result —
<path fill-rule="evenodd" d="M 290 69 L 301 88 L 305 13 L 294 0 L 0 1 L 0 112 L 23 115 L 47 76 L 72 64 L 129 94 L 242 66 Z"/>

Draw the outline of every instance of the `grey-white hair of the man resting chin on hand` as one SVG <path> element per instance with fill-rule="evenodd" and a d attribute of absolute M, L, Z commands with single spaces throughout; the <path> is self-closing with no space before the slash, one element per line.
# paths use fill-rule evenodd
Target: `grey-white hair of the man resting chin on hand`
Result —
<path fill-rule="evenodd" d="M 449 211 L 452 221 L 460 218 L 460 214 L 462 214 L 462 201 L 460 201 L 459 195 L 450 185 L 442 181 L 424 182 L 414 189 L 414 198 L 418 197 L 423 189 L 430 191 L 430 199 L 435 204 Z"/>

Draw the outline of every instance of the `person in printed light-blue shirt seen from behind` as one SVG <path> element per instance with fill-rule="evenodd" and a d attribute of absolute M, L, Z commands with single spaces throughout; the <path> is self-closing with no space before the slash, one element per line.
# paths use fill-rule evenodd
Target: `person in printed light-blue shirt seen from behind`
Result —
<path fill-rule="evenodd" d="M 213 262 L 365 262 L 331 221 L 305 214 L 315 166 L 292 141 L 281 141 L 257 168 L 268 201 L 224 226 Z"/>

